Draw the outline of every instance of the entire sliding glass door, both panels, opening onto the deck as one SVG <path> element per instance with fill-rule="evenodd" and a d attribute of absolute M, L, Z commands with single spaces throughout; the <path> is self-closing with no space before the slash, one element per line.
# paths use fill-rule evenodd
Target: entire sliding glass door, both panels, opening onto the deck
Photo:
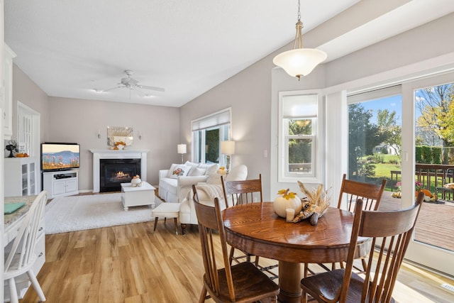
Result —
<path fill-rule="evenodd" d="M 348 177 L 387 179 L 380 210 L 424 190 L 406 259 L 454 275 L 454 74 L 350 95 L 348 118 Z"/>

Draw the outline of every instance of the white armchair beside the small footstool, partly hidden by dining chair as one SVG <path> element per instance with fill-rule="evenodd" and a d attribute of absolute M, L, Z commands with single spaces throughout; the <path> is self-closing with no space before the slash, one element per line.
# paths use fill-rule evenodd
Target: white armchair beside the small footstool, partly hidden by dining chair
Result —
<path fill-rule="evenodd" d="M 241 181 L 246 180 L 248 177 L 248 167 L 246 165 L 238 165 L 233 167 L 231 172 L 225 177 L 226 181 Z M 205 184 L 213 185 L 211 191 L 207 192 L 206 190 L 199 190 L 205 187 Z M 199 202 L 201 204 L 214 205 L 214 197 L 219 198 L 219 202 L 225 208 L 225 202 L 223 197 L 223 190 L 221 184 L 221 175 L 212 174 L 206 180 L 196 185 L 197 195 L 199 197 Z M 182 234 L 186 233 L 187 224 L 198 224 L 196 210 L 194 208 L 194 200 L 192 189 L 187 193 L 179 206 L 179 223 L 182 227 Z"/>

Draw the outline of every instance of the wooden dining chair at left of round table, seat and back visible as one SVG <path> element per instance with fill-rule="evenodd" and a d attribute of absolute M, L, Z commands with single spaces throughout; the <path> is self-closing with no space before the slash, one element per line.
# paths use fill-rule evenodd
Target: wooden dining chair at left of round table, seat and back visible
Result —
<path fill-rule="evenodd" d="M 193 189 L 195 192 L 194 185 Z M 231 265 L 229 262 L 226 233 L 218 198 L 214 199 L 214 206 L 209 206 L 200 204 L 197 195 L 194 194 L 194 207 L 199 221 L 201 255 L 205 268 L 204 286 L 199 302 L 205 302 L 209 298 L 214 299 L 215 302 L 246 303 L 264 299 L 267 299 L 267 302 L 277 302 L 279 286 L 265 273 L 250 262 L 236 265 Z M 218 258 L 219 246 L 216 245 L 216 241 L 219 241 L 221 246 L 222 258 Z"/>

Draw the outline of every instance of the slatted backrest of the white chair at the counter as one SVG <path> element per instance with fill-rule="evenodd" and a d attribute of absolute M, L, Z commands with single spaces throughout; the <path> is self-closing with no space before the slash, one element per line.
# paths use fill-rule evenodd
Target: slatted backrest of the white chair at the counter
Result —
<path fill-rule="evenodd" d="M 13 269 L 21 269 L 35 261 L 34 252 L 36 246 L 36 236 L 38 234 L 40 219 L 43 216 L 47 200 L 48 193 L 43 191 L 40 192 L 38 197 L 36 197 L 33 201 L 30 209 L 22 221 L 22 225 L 19 228 L 8 257 L 6 258 L 4 265 L 5 272 Z M 13 258 L 15 256 L 18 258 L 18 262 L 13 262 Z M 12 265 L 14 265 L 14 268 L 11 268 Z"/>

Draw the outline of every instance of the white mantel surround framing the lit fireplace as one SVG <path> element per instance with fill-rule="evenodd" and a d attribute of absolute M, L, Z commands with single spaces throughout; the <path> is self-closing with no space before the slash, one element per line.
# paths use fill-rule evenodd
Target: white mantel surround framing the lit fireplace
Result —
<path fill-rule="evenodd" d="M 93 192 L 99 192 L 99 160 L 140 159 L 140 180 L 147 180 L 147 153 L 149 150 L 90 150 L 93 153 Z"/>

